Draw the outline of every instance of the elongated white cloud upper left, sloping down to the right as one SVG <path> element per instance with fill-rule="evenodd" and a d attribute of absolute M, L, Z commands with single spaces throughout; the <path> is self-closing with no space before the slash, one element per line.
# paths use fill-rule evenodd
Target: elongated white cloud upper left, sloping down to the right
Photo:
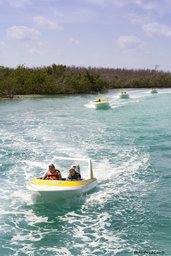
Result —
<path fill-rule="evenodd" d="M 50 29 L 50 30 L 56 30 L 56 29 L 62 30 L 62 27 L 59 26 L 57 23 L 51 20 L 48 20 L 43 16 L 34 17 L 33 22 L 38 28 Z"/>

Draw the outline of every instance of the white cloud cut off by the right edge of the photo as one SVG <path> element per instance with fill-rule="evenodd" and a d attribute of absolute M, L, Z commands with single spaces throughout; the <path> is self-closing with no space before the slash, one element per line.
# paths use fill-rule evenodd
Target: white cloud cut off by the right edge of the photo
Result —
<path fill-rule="evenodd" d="M 171 37 L 171 27 L 157 22 L 144 24 L 142 30 L 150 37 L 153 35 Z"/>

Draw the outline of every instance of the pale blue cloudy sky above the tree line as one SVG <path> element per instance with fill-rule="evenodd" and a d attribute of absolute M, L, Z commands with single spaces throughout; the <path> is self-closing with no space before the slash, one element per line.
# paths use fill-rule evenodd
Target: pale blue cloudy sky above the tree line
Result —
<path fill-rule="evenodd" d="M 0 66 L 171 72 L 171 0 L 0 0 Z"/>

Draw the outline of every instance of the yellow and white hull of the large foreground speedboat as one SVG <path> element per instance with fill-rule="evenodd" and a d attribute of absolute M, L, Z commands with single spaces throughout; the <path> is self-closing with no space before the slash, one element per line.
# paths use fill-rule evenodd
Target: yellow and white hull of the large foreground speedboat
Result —
<path fill-rule="evenodd" d="M 34 179 L 26 188 L 40 195 L 44 202 L 55 202 L 60 198 L 70 198 L 89 192 L 97 186 L 96 178 L 82 181 Z"/>

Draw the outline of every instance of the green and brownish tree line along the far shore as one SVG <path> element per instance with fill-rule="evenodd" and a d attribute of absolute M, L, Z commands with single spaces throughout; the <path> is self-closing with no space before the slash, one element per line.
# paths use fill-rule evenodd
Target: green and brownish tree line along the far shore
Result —
<path fill-rule="evenodd" d="M 169 71 L 76 67 L 66 65 L 28 68 L 0 66 L 0 96 L 76 94 L 112 88 L 171 87 Z"/>

